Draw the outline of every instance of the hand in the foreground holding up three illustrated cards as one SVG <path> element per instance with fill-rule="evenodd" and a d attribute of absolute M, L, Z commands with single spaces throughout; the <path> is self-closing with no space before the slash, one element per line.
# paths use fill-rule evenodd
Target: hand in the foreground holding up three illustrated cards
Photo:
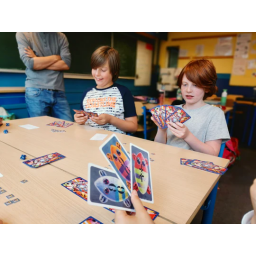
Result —
<path fill-rule="evenodd" d="M 132 204 L 135 208 L 135 215 L 128 215 L 126 211 L 116 210 L 115 223 L 116 224 L 154 224 L 153 220 L 148 215 L 146 209 L 141 203 L 136 190 L 132 191 Z"/>

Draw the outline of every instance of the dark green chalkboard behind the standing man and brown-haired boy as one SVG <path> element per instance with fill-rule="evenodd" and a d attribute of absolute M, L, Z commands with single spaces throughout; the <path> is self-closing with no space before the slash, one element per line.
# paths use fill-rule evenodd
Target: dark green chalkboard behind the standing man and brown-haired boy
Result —
<path fill-rule="evenodd" d="M 0 33 L 0 69 L 25 70 L 19 57 L 15 32 Z M 113 45 L 121 59 L 120 76 L 135 77 L 137 39 L 125 33 L 64 32 L 72 57 L 68 73 L 91 74 L 92 53 L 100 46 Z"/>

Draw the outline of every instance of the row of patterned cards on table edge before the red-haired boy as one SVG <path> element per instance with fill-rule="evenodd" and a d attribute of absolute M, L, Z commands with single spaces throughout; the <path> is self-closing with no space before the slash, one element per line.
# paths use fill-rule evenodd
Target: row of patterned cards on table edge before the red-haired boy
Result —
<path fill-rule="evenodd" d="M 227 168 L 215 165 L 213 162 L 201 161 L 198 159 L 181 158 L 180 164 L 219 175 L 223 175 L 227 171 Z"/>

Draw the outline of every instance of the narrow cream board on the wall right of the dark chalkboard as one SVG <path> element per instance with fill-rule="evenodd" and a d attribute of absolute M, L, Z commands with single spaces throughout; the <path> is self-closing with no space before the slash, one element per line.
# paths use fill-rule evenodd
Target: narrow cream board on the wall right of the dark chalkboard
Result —
<path fill-rule="evenodd" d="M 153 45 L 137 41 L 136 78 L 134 85 L 148 86 L 151 81 Z"/>

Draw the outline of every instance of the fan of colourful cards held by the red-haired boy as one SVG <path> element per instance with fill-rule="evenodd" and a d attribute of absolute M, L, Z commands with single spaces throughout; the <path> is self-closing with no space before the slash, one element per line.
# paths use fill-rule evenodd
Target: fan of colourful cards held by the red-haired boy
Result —
<path fill-rule="evenodd" d="M 184 123 L 191 118 L 182 108 L 171 105 L 156 106 L 150 112 L 162 129 L 167 128 L 170 121 Z"/>

